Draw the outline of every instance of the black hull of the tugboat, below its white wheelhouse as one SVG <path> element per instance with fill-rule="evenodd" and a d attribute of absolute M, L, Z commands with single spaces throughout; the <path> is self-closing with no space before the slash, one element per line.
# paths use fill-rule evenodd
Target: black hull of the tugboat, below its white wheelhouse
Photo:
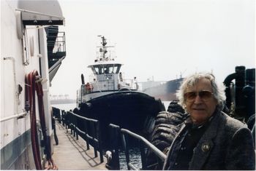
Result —
<path fill-rule="evenodd" d="M 165 111 L 161 100 L 142 92 L 122 91 L 89 100 L 80 106 L 80 115 L 99 120 L 103 147 L 110 146 L 108 125 L 121 128 L 148 138 L 154 128 L 159 111 Z"/>

